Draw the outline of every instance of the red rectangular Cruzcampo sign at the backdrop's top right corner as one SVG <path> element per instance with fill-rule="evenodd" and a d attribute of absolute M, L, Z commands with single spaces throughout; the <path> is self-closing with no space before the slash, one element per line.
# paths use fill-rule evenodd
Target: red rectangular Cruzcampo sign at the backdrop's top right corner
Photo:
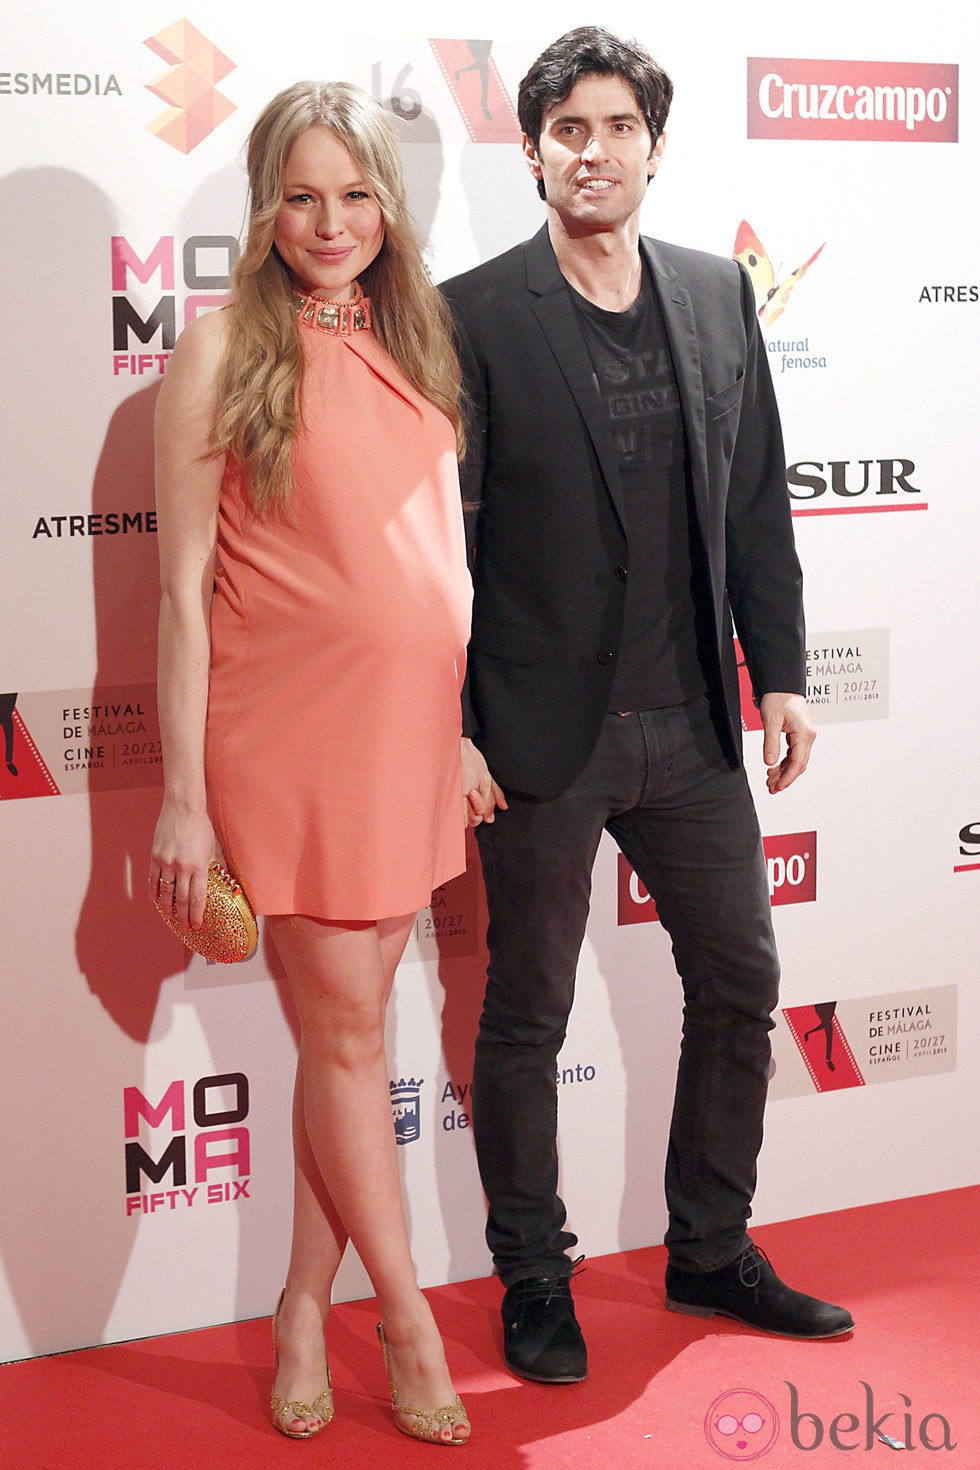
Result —
<path fill-rule="evenodd" d="M 956 143 L 959 68 L 748 57 L 749 138 Z"/>

